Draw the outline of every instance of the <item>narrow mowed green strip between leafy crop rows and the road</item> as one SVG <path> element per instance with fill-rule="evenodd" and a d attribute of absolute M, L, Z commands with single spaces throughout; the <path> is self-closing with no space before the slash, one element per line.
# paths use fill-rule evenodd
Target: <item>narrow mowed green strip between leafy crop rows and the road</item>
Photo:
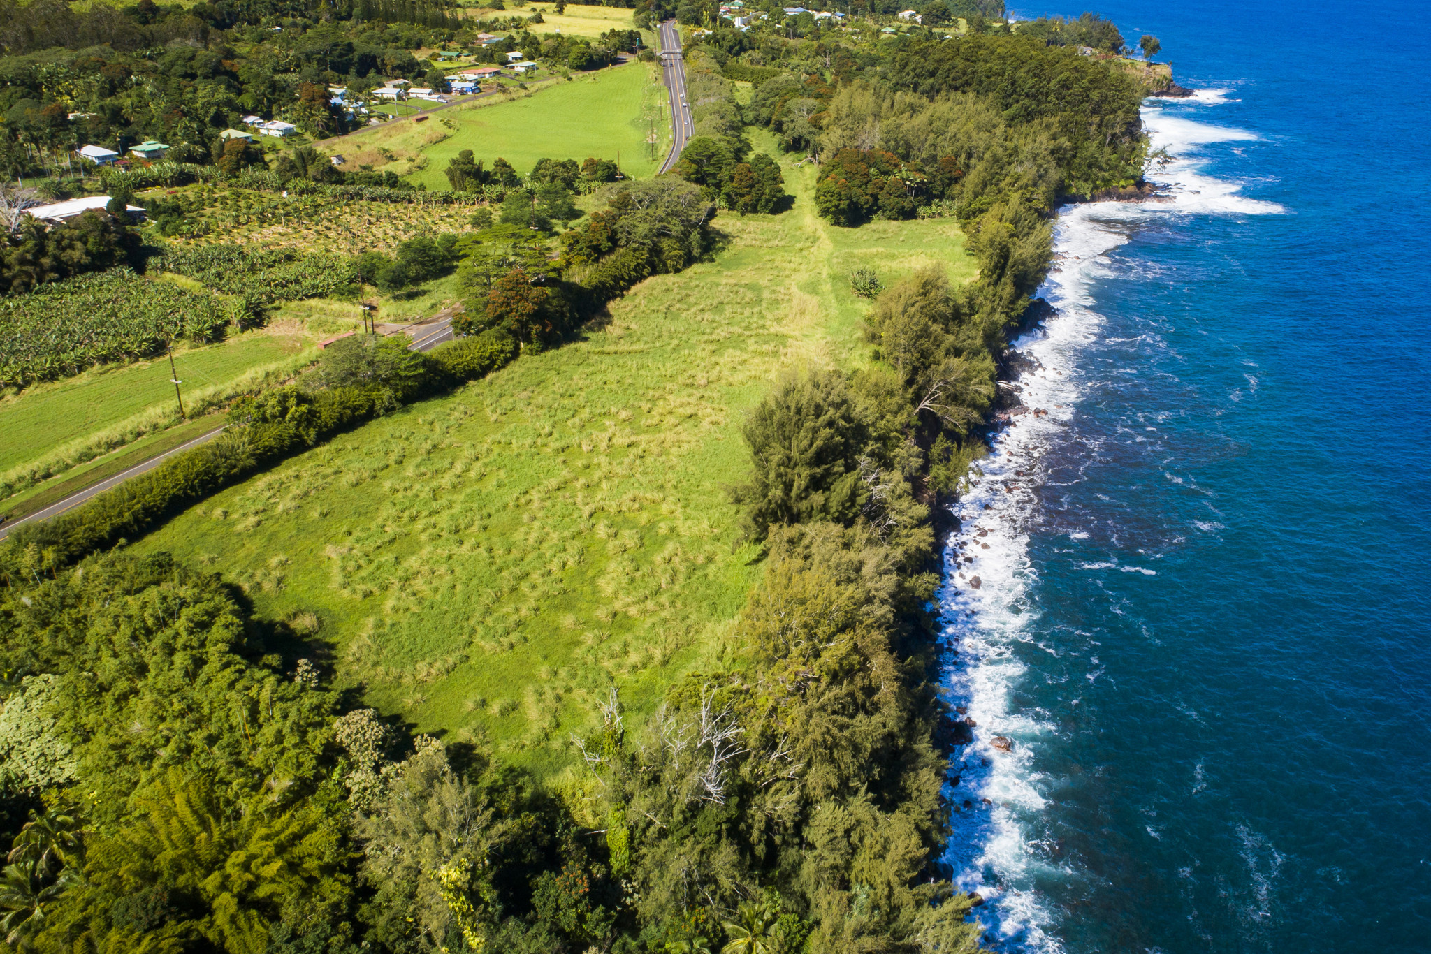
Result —
<path fill-rule="evenodd" d="M 233 380 L 243 372 L 298 353 L 306 345 L 293 335 L 263 332 L 175 353 L 175 368 L 193 390 Z M 122 368 L 99 368 L 77 378 L 34 385 L 0 400 L 0 471 L 39 459 L 54 448 L 139 415 L 175 405 L 169 359 Z"/>

